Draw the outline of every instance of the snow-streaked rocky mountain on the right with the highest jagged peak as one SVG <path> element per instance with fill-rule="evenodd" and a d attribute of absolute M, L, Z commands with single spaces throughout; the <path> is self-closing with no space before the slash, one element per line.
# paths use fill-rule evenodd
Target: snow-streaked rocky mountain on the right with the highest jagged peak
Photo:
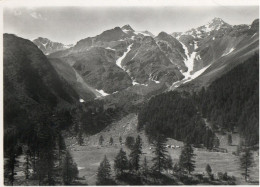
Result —
<path fill-rule="evenodd" d="M 219 19 L 214 19 L 211 23 L 214 23 L 215 27 L 220 24 L 217 26 L 219 29 L 210 29 L 199 36 L 193 32 L 173 34 L 186 47 L 191 68 L 190 75 L 185 77 L 186 81 L 183 79 L 171 89 L 180 85 L 181 88 L 187 88 L 186 90 L 208 86 L 259 50 L 258 19 L 251 25 L 230 26 Z M 198 30 L 200 28 L 202 27 Z M 193 79 L 195 80 L 192 81 Z"/>

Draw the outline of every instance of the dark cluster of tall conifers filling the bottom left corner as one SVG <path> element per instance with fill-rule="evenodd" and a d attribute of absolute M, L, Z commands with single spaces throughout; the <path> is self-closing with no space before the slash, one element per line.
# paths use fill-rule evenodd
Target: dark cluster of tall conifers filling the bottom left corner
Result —
<path fill-rule="evenodd" d="M 24 181 L 38 181 L 38 185 L 67 185 L 77 179 L 77 165 L 66 149 L 59 125 L 66 116 L 60 119 L 63 115 L 56 114 L 35 108 L 27 126 L 5 128 L 5 184 L 15 184 L 18 167 L 23 168 Z M 24 157 L 23 165 L 19 157 Z"/>

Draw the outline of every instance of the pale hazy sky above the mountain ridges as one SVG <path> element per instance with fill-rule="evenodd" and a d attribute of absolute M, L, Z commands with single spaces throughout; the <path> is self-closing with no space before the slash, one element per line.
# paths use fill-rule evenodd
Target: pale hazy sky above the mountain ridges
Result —
<path fill-rule="evenodd" d="M 214 7 L 16 7 L 4 9 L 4 32 L 33 40 L 46 37 L 64 44 L 96 36 L 116 26 L 129 24 L 136 31 L 157 35 L 183 32 L 213 18 L 251 24 L 259 18 L 258 6 Z"/>

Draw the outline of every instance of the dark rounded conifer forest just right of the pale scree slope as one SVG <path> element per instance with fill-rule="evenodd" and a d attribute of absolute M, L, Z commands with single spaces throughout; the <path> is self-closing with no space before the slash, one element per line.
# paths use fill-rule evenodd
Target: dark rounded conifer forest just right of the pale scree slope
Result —
<path fill-rule="evenodd" d="M 204 144 L 209 149 L 216 138 L 188 93 L 168 92 L 153 97 L 140 111 L 138 127 L 150 137 L 161 133 L 195 145 Z"/>

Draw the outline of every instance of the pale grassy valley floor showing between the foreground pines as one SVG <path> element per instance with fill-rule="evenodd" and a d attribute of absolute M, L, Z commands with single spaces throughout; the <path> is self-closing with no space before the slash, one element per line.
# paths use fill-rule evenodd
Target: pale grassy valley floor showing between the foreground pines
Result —
<path fill-rule="evenodd" d="M 151 145 L 149 145 L 144 132 L 138 133 L 136 130 L 137 127 L 137 115 L 130 114 L 120 121 L 111 124 L 109 127 L 104 129 L 102 132 L 90 136 L 85 137 L 85 145 L 78 146 L 75 138 L 67 138 L 66 144 L 72 145 L 69 146 L 71 154 L 79 167 L 79 176 L 85 178 L 85 182 L 89 185 L 95 185 L 96 182 L 96 172 L 99 166 L 99 163 L 103 160 L 104 155 L 107 155 L 108 160 L 113 168 L 113 160 L 116 154 L 119 152 L 122 147 L 127 155 L 129 154 L 129 149 L 127 149 L 124 145 L 119 145 L 119 137 L 121 136 L 123 142 L 127 136 L 136 137 L 138 134 L 141 136 L 143 141 L 143 157 L 146 156 L 148 163 L 153 157 L 152 149 L 150 149 Z M 104 137 L 104 145 L 99 146 L 98 140 L 100 135 Z M 215 177 L 217 177 L 217 172 L 227 172 L 228 175 L 233 175 L 237 179 L 238 184 L 248 184 L 244 182 L 244 179 L 241 175 L 239 169 L 239 157 L 232 154 L 232 152 L 236 151 L 236 145 L 239 142 L 238 134 L 233 134 L 233 145 L 227 145 L 227 135 L 217 134 L 220 139 L 220 147 L 228 150 L 227 153 L 221 152 L 209 152 L 205 149 L 196 149 L 194 150 L 197 155 L 195 158 L 196 161 L 196 169 L 195 173 L 205 173 L 205 167 L 207 164 L 210 164 Z M 114 139 L 115 145 L 109 145 L 109 139 L 112 137 Z M 180 147 L 183 146 L 182 142 L 169 139 L 167 142 L 168 145 L 178 145 Z M 173 162 L 178 162 L 181 148 L 171 149 L 168 148 L 169 154 L 171 155 Z M 255 167 L 252 168 L 252 172 L 250 175 L 250 179 L 252 181 L 259 181 L 259 158 L 257 153 L 254 153 Z M 143 158 L 142 158 L 143 161 Z"/>

